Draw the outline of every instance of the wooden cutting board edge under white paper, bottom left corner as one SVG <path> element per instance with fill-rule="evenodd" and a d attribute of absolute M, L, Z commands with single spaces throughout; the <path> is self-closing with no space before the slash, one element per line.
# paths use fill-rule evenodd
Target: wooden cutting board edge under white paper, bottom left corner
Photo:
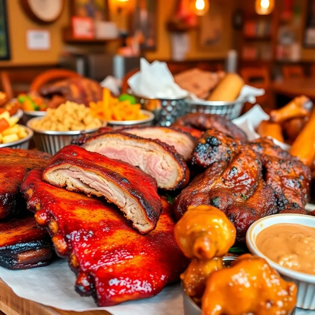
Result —
<path fill-rule="evenodd" d="M 111 315 L 106 311 L 70 312 L 22 299 L 0 279 L 0 315 Z"/>

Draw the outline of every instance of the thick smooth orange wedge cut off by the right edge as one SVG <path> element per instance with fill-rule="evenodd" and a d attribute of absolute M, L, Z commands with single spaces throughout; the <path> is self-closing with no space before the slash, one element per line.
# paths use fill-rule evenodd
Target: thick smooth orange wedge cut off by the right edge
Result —
<path fill-rule="evenodd" d="M 312 165 L 315 157 L 315 111 L 293 142 L 290 153 L 307 166 Z"/>

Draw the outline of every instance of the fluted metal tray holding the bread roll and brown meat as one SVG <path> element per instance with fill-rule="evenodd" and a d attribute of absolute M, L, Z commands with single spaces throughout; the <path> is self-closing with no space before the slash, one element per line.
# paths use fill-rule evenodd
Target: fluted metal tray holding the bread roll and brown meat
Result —
<path fill-rule="evenodd" d="M 186 114 L 202 112 L 205 114 L 217 114 L 232 120 L 241 115 L 245 102 L 246 100 L 231 102 L 189 100 L 186 106 Z"/>

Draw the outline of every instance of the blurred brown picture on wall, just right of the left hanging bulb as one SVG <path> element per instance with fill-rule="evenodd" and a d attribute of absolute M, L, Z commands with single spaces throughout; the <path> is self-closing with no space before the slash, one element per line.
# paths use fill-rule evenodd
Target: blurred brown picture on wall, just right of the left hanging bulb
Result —
<path fill-rule="evenodd" d="M 199 18 L 199 48 L 218 52 L 228 49 L 231 24 L 232 8 L 228 1 L 210 1 L 208 12 Z"/>

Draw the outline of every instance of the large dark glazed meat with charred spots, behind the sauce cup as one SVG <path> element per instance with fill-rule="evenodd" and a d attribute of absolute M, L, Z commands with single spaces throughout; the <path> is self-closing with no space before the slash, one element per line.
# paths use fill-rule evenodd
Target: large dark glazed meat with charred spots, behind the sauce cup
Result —
<path fill-rule="evenodd" d="M 310 169 L 269 139 L 243 143 L 210 129 L 198 140 L 192 162 L 206 170 L 176 198 L 177 219 L 190 205 L 212 205 L 232 221 L 237 241 L 244 241 L 261 217 L 306 214 Z"/>

